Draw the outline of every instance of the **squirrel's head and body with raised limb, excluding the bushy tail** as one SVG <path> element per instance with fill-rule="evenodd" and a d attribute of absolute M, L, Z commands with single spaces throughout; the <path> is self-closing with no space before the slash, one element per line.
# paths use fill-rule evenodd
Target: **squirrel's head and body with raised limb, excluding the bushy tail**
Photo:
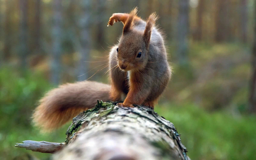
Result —
<path fill-rule="evenodd" d="M 145 104 L 154 108 L 154 104 L 157 103 L 159 96 L 170 80 L 171 69 L 167 62 L 161 32 L 155 28 L 157 15 L 155 13 L 151 14 L 145 24 L 145 21 L 136 16 L 136 13 L 137 8 L 133 9 L 129 16 L 119 13 L 110 17 L 110 22 L 112 22 L 112 19 L 117 19 L 117 17 L 118 19 L 126 19 L 123 22 L 124 29 L 120 42 L 110 52 L 110 67 L 116 64 L 120 67 L 120 69 L 110 71 L 113 86 L 110 93 L 116 99 L 120 99 L 120 95 L 127 95 L 124 103 L 120 103 L 119 106 L 131 107 L 132 104 Z M 153 30 L 153 36 L 156 36 L 156 38 L 153 37 L 154 42 L 151 43 Z M 156 41 L 158 39 L 159 44 Z M 116 52 L 117 47 L 118 53 Z M 137 58 L 139 52 L 142 53 L 141 58 Z M 160 56 L 157 56 L 158 54 Z M 158 57 L 162 57 L 160 58 L 162 62 L 159 61 Z M 115 58 L 118 60 L 114 60 Z M 159 63 L 150 63 L 151 60 L 159 61 Z M 127 72 L 121 71 L 123 66 L 126 66 L 123 71 Z M 162 68 L 163 71 L 160 71 L 159 68 Z M 130 72 L 129 80 L 127 80 L 127 74 L 125 74 L 128 72 Z M 126 92 L 127 84 L 128 93 Z"/>

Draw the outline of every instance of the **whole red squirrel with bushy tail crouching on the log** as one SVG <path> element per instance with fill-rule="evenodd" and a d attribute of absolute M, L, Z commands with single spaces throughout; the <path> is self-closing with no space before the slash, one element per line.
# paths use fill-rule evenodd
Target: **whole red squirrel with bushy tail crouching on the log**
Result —
<path fill-rule="evenodd" d="M 168 84 L 172 70 L 162 32 L 155 26 L 155 13 L 146 21 L 137 16 L 138 8 L 129 14 L 115 13 L 108 26 L 124 24 L 118 45 L 109 53 L 110 85 L 83 81 L 60 85 L 39 101 L 33 122 L 43 131 L 51 131 L 67 123 L 84 110 L 95 106 L 95 100 L 123 101 L 119 107 L 133 104 L 154 109 Z"/>

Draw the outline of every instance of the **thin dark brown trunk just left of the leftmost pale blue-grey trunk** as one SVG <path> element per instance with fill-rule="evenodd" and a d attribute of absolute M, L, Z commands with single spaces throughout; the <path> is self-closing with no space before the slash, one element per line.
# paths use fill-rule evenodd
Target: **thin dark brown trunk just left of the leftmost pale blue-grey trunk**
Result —
<path fill-rule="evenodd" d="M 35 50 L 40 50 L 41 0 L 35 1 Z"/>

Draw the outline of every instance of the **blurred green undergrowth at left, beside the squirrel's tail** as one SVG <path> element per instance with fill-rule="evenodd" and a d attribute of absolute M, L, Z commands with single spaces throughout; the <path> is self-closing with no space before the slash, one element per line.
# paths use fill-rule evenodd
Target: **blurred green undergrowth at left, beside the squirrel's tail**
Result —
<path fill-rule="evenodd" d="M 0 159 L 13 159 L 26 152 L 38 158 L 50 155 L 15 148 L 16 142 L 24 140 L 64 142 L 65 130 L 41 134 L 31 124 L 31 114 L 36 102 L 51 88 L 40 73 L 20 72 L 11 68 L 0 68 Z M 20 157 L 18 158 L 20 159 Z"/>

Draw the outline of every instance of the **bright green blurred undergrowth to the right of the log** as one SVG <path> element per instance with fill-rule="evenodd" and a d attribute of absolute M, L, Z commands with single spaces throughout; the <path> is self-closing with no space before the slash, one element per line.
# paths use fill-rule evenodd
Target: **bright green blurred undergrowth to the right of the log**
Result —
<path fill-rule="evenodd" d="M 227 111 L 207 113 L 195 105 L 162 104 L 155 111 L 174 124 L 191 159 L 255 158 L 256 117 L 253 115 L 234 118 Z"/>

